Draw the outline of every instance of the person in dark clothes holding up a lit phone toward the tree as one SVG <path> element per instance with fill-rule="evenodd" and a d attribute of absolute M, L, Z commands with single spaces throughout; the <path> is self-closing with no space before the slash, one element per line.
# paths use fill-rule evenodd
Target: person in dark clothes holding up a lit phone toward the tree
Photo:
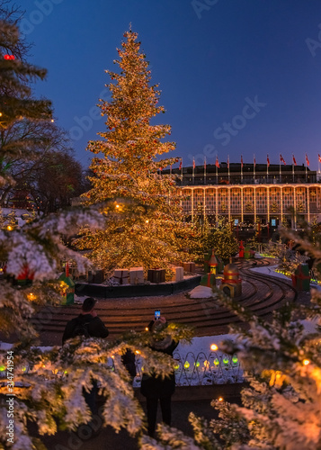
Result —
<path fill-rule="evenodd" d="M 165 317 L 159 320 L 152 320 L 148 329 L 152 334 L 160 332 L 166 327 Z M 156 352 L 165 353 L 173 357 L 174 349 L 178 346 L 178 342 L 174 341 L 169 335 L 162 340 L 153 338 L 151 348 Z M 171 398 L 175 391 L 175 375 L 174 372 L 162 379 L 156 375 L 143 375 L 140 392 L 146 397 L 147 401 L 147 431 L 150 437 L 154 437 L 156 428 L 157 404 L 160 402 L 162 410 L 163 422 L 171 425 L 172 411 Z"/>

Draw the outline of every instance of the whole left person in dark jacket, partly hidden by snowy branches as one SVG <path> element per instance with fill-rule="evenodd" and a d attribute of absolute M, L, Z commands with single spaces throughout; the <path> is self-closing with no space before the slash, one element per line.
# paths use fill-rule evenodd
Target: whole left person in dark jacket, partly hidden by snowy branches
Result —
<path fill-rule="evenodd" d="M 78 324 L 85 324 L 85 328 L 91 338 L 107 338 L 109 331 L 103 324 L 103 320 L 99 319 L 97 316 L 97 311 L 94 309 L 96 303 L 97 301 L 93 297 L 87 297 L 85 299 L 79 316 L 67 322 L 66 329 L 62 337 L 63 345 L 67 339 L 75 338 L 74 332 Z M 95 381 L 93 382 L 93 388 L 90 392 L 86 392 L 85 389 L 83 389 L 85 402 L 92 411 L 93 416 L 98 412 L 96 405 L 97 392 L 98 387 Z"/>

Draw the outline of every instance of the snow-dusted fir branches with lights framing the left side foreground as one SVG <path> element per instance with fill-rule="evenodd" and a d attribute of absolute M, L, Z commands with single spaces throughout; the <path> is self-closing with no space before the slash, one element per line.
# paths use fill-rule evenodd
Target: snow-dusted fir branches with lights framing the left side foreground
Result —
<path fill-rule="evenodd" d="M 5 4 L 0 0 L 0 13 Z M 18 44 L 18 28 L 5 15 L 0 28 L 1 56 L 4 56 L 4 49 L 15 49 Z M 32 99 L 30 86 L 24 78 L 41 78 L 45 71 L 15 59 L 4 61 L 8 66 L 3 66 L 1 59 L 0 96 L 4 109 L 0 132 L 20 121 L 22 114 L 30 120 L 50 121 L 49 103 Z M 19 146 L 0 148 L 5 155 L 13 152 L 16 157 L 20 150 Z M 14 183 L 4 173 L 1 175 L 4 183 Z M 30 423 L 35 424 L 37 433 L 42 436 L 54 434 L 58 428 L 76 429 L 93 419 L 82 389 L 89 390 L 94 380 L 100 383 L 105 398 L 102 422 L 116 430 L 127 428 L 131 434 L 141 432 L 143 413 L 129 384 L 129 374 L 120 364 L 120 355 L 126 348 L 139 352 L 146 360 L 147 374 L 153 370 L 157 374 L 168 374 L 173 369 L 173 358 L 157 356 L 149 349 L 148 333 L 131 333 L 114 342 L 95 338 L 81 342 L 76 338 L 50 351 L 34 347 L 39 344 L 34 323 L 43 327 L 48 323 L 48 317 L 43 323 L 37 320 L 35 311 L 43 305 L 50 311 L 50 306 L 61 298 L 60 261 L 73 259 L 80 273 L 90 267 L 88 260 L 62 244 L 62 237 L 76 234 L 79 227 L 85 225 L 93 230 L 104 229 L 108 221 L 114 224 L 120 216 L 138 213 L 136 203 L 130 200 L 121 203 L 121 211 L 114 211 L 112 201 L 105 202 L 103 209 L 105 215 L 97 211 L 98 206 L 92 206 L 38 218 L 21 229 L 0 229 L 0 261 L 6 263 L 7 275 L 0 280 L 0 329 L 2 338 L 14 342 L 12 347 L 4 344 L 0 350 L 0 448 L 45 448 L 39 437 L 31 436 Z M 28 283 L 13 283 L 21 276 Z M 170 327 L 167 332 L 177 339 L 189 337 L 189 332 L 179 327 Z M 13 422 L 9 422 L 6 400 L 13 395 Z M 13 437 L 10 428 L 13 428 Z"/>

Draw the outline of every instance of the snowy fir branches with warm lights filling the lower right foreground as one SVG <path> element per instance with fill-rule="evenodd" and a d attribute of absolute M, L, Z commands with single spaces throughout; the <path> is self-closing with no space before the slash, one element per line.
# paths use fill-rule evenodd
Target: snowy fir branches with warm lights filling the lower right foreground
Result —
<path fill-rule="evenodd" d="M 284 229 L 283 236 L 315 257 L 320 270 L 321 234 L 303 224 L 304 232 Z M 242 392 L 242 406 L 213 401 L 219 419 L 190 421 L 194 440 L 177 431 L 159 428 L 160 442 L 144 437 L 142 448 L 201 448 L 206 450 L 314 450 L 321 448 L 321 293 L 311 290 L 306 305 L 284 305 L 272 320 L 252 312 L 218 292 L 220 302 L 249 324 L 233 327 L 235 342 L 219 348 L 237 354 L 250 387 Z"/>

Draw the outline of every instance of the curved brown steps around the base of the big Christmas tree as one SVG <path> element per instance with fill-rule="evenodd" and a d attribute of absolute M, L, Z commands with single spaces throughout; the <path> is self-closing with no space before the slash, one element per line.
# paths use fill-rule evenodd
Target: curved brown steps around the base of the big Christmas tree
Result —
<path fill-rule="evenodd" d="M 269 266 L 267 259 L 255 259 L 256 266 Z M 242 296 L 238 302 L 269 319 L 272 311 L 284 302 L 295 302 L 297 291 L 290 281 L 249 270 L 254 260 L 237 262 L 243 279 Z M 169 321 L 185 323 L 195 328 L 196 336 L 214 336 L 228 332 L 228 325 L 241 323 L 231 311 L 222 308 L 213 299 L 190 299 L 187 293 L 158 297 L 132 297 L 99 300 L 97 312 L 115 337 L 129 329 L 142 331 L 160 308 Z M 60 345 L 67 320 L 76 316 L 78 305 L 40 311 L 37 328 L 43 345 Z M 42 319 L 40 317 L 42 316 Z"/>

